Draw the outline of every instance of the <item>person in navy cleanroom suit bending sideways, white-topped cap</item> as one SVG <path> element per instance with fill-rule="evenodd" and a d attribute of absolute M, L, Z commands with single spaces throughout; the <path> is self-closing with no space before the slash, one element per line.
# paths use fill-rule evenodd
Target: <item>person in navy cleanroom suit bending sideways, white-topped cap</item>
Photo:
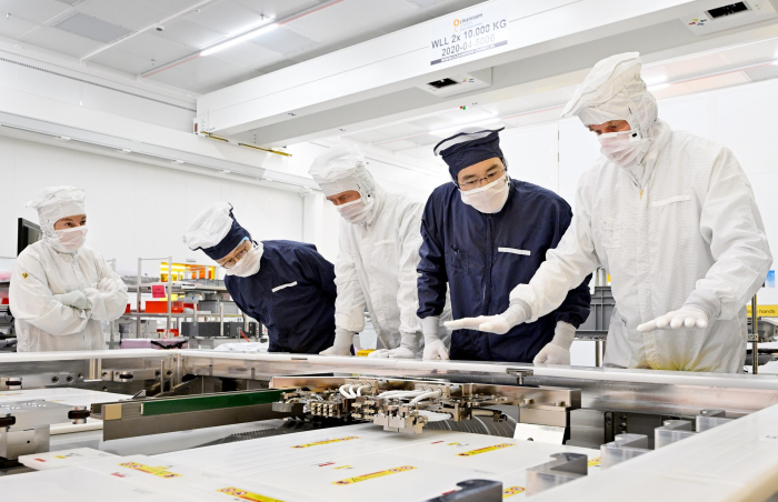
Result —
<path fill-rule="evenodd" d="M 268 329 L 269 352 L 318 354 L 332 345 L 335 268 L 316 245 L 253 242 L 227 202 L 206 208 L 184 239 L 225 268 L 232 300 Z"/>

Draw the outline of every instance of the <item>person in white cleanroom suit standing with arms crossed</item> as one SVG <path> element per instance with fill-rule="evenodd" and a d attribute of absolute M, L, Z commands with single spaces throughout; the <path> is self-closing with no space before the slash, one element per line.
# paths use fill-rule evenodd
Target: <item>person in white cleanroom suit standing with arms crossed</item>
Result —
<path fill-rule="evenodd" d="M 84 191 L 43 189 L 38 210 L 43 239 L 17 258 L 10 307 L 19 352 L 103 350 L 100 321 L 124 313 L 127 285 L 87 240 Z"/>

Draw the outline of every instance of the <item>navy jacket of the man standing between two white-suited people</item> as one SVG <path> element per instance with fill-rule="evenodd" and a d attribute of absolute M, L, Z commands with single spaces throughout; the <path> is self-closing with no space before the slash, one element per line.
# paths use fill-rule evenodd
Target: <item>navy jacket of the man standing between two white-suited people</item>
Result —
<path fill-rule="evenodd" d="M 510 291 L 532 279 L 571 220 L 561 197 L 532 183 L 511 180 L 508 200 L 495 214 L 463 203 L 453 183 L 438 187 L 421 219 L 419 318 L 440 315 L 447 283 L 453 319 L 502 313 Z M 455 331 L 450 358 L 531 362 L 553 338 L 557 321 L 578 328 L 589 315 L 589 279 L 570 290 L 559 309 L 506 334 Z"/>

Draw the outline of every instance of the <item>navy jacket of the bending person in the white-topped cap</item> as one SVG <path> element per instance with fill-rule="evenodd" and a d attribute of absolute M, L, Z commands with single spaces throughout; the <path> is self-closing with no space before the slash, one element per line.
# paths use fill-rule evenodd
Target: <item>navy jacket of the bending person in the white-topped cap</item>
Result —
<path fill-rule="evenodd" d="M 262 241 L 259 272 L 227 275 L 225 285 L 241 311 L 268 329 L 269 352 L 318 354 L 335 340 L 335 267 L 316 245 Z"/>

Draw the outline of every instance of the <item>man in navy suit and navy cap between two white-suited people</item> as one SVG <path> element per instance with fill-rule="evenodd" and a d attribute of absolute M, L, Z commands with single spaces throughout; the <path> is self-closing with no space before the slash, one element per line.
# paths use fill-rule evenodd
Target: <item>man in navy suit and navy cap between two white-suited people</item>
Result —
<path fill-rule="evenodd" d="M 508 177 L 498 132 L 460 132 L 436 147 L 453 183 L 432 192 L 421 220 L 423 243 L 417 270 L 418 314 L 423 328 L 435 324 L 426 323 L 426 318 L 441 313 L 447 283 L 453 319 L 505 312 L 510 291 L 532 279 L 546 251 L 557 247 L 572 219 L 561 197 Z M 459 175 L 476 164 L 482 170 L 469 178 Z M 589 278 L 571 290 L 556 311 L 505 334 L 457 329 L 451 335 L 450 359 L 530 362 L 557 334 L 571 342 L 576 328 L 589 315 L 588 282 Z M 446 325 L 459 328 L 457 322 Z M 435 334 L 425 331 L 427 345 L 435 341 Z M 425 359 L 447 355 L 445 351 L 427 353 Z"/>

